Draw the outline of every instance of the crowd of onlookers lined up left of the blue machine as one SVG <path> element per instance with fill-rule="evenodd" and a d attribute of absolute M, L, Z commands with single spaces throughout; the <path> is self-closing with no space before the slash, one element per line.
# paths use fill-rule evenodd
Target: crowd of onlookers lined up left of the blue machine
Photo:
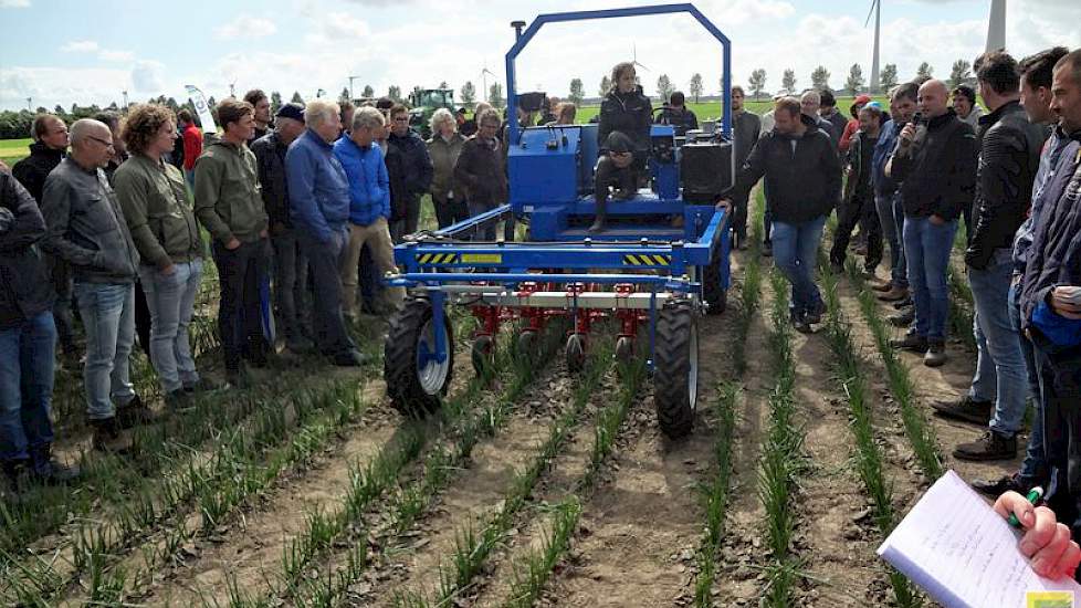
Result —
<path fill-rule="evenodd" d="M 214 112 L 221 129 L 206 136 L 187 109 L 156 104 L 70 128 L 42 114 L 30 156 L 0 167 L 9 489 L 78 474 L 52 455 L 57 359 L 82 368 L 93 448 L 124 453 L 125 429 L 161 416 L 130 380 L 136 344 L 167 413 L 190 410 L 203 391 L 248 387 L 250 368 L 275 358 L 360 366 L 348 326 L 403 300 L 381 277 L 396 271 L 395 243 L 418 230 L 421 197 L 431 193 L 440 227 L 506 200 L 504 124 L 490 106 L 475 112 L 469 138 L 461 115 L 435 112 L 428 141 L 389 99 L 285 104 L 271 116 L 253 90 Z M 574 119 L 573 105 L 558 112 Z M 211 261 L 224 382 L 200 375 L 189 339 Z"/>

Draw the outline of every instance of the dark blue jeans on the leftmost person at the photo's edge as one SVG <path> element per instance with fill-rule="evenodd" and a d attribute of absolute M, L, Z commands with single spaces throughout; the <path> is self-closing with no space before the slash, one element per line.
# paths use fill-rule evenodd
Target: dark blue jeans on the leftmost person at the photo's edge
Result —
<path fill-rule="evenodd" d="M 0 329 L 0 460 L 24 460 L 29 449 L 52 443 L 55 356 L 52 312 Z"/>

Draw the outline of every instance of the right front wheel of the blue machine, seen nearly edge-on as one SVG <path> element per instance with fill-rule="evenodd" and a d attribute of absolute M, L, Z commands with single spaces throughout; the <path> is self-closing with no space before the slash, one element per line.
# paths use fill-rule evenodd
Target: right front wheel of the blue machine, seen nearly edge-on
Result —
<path fill-rule="evenodd" d="M 699 329 L 690 302 L 660 312 L 654 352 L 657 422 L 670 439 L 686 437 L 694 428 L 699 392 Z"/>

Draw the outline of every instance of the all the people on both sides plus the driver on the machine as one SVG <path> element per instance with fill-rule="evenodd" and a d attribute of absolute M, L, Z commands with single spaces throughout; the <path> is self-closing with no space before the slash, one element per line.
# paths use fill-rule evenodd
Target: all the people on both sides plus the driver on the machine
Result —
<path fill-rule="evenodd" d="M 718 205 L 733 211 L 735 247 L 746 250 L 749 193 L 764 181 L 760 251 L 790 282 L 791 322 L 805 333 L 826 308 L 814 269 L 828 216 L 837 210 L 832 272 L 854 247 L 878 281 L 888 247 L 889 275 L 874 289 L 899 310 L 891 322 L 907 327 L 893 346 L 928 367 L 947 359 L 947 273 L 964 223 L 976 373 L 967 395 L 935 412 L 984 427 L 955 458 L 1010 460 L 1035 406 L 1021 469 L 974 485 L 1031 523 L 1022 548 L 1046 573 L 1072 574 L 1081 562 L 1071 541 L 1081 536 L 1081 482 L 1071 474 L 1081 467 L 1081 51 L 1020 61 L 990 52 L 975 70 L 975 88 L 904 83 L 888 107 L 863 95 L 848 115 L 829 91 L 808 91 L 776 97 L 758 116 L 733 87 L 739 170 Z M 632 64 L 617 65 L 611 82 L 592 232 L 605 230 L 609 196 L 637 192 L 650 125 L 697 127 L 682 94 L 654 116 Z M 552 101 L 539 124 L 573 124 L 575 111 Z M 248 369 L 280 353 L 360 366 L 349 324 L 402 302 L 403 290 L 381 277 L 396 269 L 395 243 L 419 229 L 422 196 L 441 228 L 507 200 L 506 123 L 486 104 L 473 120 L 437 111 L 428 141 L 390 99 L 316 99 L 271 116 L 254 90 L 216 112 L 221 130 L 206 137 L 187 111 L 154 104 L 70 130 L 40 115 L 30 156 L 0 170 L 0 461 L 12 486 L 77 474 L 51 454 L 57 356 L 82 361 L 93 447 L 123 452 L 123 430 L 156 417 L 129 378 L 136 342 L 171 412 L 201 391 L 246 387 Z M 536 124 L 525 112 L 517 119 Z M 495 224 L 473 237 L 494 240 Z M 200 375 L 189 345 L 208 256 L 220 282 L 224 385 Z M 1035 485 L 1049 489 L 1047 507 L 1021 496 Z"/>

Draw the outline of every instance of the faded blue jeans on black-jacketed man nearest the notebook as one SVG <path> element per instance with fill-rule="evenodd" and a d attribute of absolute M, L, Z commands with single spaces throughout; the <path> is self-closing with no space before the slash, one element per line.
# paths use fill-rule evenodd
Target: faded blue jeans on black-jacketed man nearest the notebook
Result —
<path fill-rule="evenodd" d="M 1011 249 L 999 248 L 986 269 L 968 269 L 968 284 L 976 305 L 973 331 L 978 349 L 968 396 L 977 401 L 995 400 L 990 429 L 1005 436 L 1012 436 L 1021 428 L 1028 394 L 1025 357 L 1009 315 L 1011 255 Z"/>

